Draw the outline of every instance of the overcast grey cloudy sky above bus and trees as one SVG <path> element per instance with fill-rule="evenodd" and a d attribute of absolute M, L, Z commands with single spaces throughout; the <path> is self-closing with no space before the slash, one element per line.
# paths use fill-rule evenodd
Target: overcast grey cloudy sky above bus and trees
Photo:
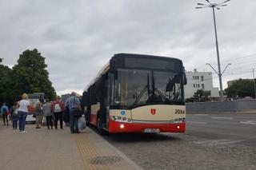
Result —
<path fill-rule="evenodd" d="M 218 70 L 211 8 L 205 0 L 0 0 L 0 57 L 10 68 L 26 49 L 46 57 L 60 94 L 83 89 L 115 53 L 177 57 L 186 71 Z M 223 2 L 211 0 L 210 2 Z M 226 81 L 256 72 L 256 1 L 231 0 L 215 11 Z M 256 77 L 256 73 L 255 73 Z"/>

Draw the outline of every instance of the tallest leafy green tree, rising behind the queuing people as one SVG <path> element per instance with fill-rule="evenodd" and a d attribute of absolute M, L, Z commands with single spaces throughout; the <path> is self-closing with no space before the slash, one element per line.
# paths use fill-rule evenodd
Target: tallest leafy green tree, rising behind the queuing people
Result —
<path fill-rule="evenodd" d="M 20 96 L 22 93 L 46 93 L 46 97 L 53 100 L 56 96 L 55 89 L 49 80 L 46 70 L 45 57 L 38 53 L 38 49 L 27 49 L 18 58 L 18 65 L 14 65 L 10 82 L 13 91 L 12 97 Z"/>

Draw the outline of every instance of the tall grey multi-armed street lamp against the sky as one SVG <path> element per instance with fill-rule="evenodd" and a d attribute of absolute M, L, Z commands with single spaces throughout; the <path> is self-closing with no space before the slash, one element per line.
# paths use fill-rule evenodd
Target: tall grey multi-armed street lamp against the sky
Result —
<path fill-rule="evenodd" d="M 212 3 L 209 0 L 206 0 L 206 2 L 208 2 L 208 4 L 202 4 L 202 3 L 198 3 L 198 6 L 195 7 L 196 9 L 201 9 L 201 8 L 212 8 L 213 9 L 213 14 L 214 14 L 214 31 L 215 31 L 215 40 L 216 40 L 216 50 L 217 50 L 217 60 L 218 60 L 218 79 L 219 79 L 219 86 L 220 86 L 220 90 L 221 90 L 221 101 L 223 101 L 223 89 L 222 89 L 222 71 L 221 71 L 221 63 L 219 61 L 219 53 L 218 53 L 218 38 L 217 38 L 217 29 L 216 29 L 216 21 L 215 21 L 215 9 L 220 10 L 222 6 L 227 6 L 225 3 L 229 2 L 230 0 L 226 0 L 224 2 L 221 3 Z M 212 67 L 213 68 L 213 67 Z M 214 70 L 215 71 L 215 70 Z"/>

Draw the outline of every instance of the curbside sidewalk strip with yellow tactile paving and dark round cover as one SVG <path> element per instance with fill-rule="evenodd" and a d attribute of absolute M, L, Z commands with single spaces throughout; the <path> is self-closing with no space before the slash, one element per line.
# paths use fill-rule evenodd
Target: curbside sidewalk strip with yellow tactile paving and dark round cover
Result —
<path fill-rule="evenodd" d="M 85 169 L 135 169 L 91 130 L 86 129 L 75 140 Z"/>

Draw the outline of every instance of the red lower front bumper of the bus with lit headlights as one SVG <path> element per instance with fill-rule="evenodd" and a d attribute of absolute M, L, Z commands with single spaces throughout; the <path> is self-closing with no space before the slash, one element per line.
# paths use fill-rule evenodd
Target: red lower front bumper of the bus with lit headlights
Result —
<path fill-rule="evenodd" d="M 109 121 L 109 132 L 145 132 L 145 129 L 155 128 L 159 129 L 159 132 L 185 132 L 186 122 L 178 124 L 133 124 L 133 123 L 122 123 L 110 120 Z"/>

